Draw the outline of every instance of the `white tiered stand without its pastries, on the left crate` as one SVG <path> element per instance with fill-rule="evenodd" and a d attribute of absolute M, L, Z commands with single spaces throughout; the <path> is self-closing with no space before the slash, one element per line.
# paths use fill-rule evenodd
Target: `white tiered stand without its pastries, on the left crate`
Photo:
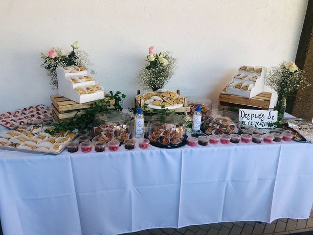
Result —
<path fill-rule="evenodd" d="M 88 71 L 86 70 L 86 71 L 66 73 L 62 67 L 58 67 L 57 77 L 58 77 L 59 95 L 67 97 L 68 99 L 71 99 L 79 104 L 104 98 L 103 88 L 101 91 L 95 91 L 94 93 L 91 93 L 91 94 L 79 94 L 79 92 L 76 92 L 74 90 L 75 88 L 80 88 L 80 87 L 86 88 L 92 85 L 97 85 L 96 80 L 73 83 L 71 80 L 71 77 L 79 76 L 79 75 L 86 76 L 88 75 Z"/>

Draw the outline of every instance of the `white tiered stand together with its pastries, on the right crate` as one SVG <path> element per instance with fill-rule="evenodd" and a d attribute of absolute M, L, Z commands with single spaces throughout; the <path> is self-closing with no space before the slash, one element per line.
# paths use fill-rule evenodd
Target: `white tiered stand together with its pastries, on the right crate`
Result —
<path fill-rule="evenodd" d="M 226 94 L 252 98 L 264 91 L 267 68 L 241 66 L 226 87 Z"/>

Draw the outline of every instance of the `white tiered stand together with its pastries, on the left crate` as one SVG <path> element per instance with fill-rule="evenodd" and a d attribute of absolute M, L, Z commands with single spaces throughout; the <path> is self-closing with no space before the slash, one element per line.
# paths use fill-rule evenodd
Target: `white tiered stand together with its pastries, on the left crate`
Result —
<path fill-rule="evenodd" d="M 103 87 L 83 66 L 58 67 L 57 77 L 59 95 L 79 104 L 104 97 Z"/>

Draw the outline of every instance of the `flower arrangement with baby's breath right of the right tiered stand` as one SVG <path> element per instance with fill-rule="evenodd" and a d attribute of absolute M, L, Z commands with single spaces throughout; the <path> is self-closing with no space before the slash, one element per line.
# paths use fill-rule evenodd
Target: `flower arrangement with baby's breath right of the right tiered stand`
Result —
<path fill-rule="evenodd" d="M 283 61 L 279 66 L 269 68 L 266 85 L 274 89 L 279 96 L 287 97 L 298 88 L 310 85 L 304 74 L 305 71 L 299 70 L 294 62 Z"/>

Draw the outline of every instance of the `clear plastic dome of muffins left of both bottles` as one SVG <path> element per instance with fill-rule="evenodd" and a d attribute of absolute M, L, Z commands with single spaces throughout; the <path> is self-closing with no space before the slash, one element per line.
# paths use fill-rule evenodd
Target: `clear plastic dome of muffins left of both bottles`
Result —
<path fill-rule="evenodd" d="M 100 113 L 93 121 L 92 131 L 93 135 L 99 136 L 100 140 L 123 142 L 132 138 L 131 117 L 114 110 Z"/>

